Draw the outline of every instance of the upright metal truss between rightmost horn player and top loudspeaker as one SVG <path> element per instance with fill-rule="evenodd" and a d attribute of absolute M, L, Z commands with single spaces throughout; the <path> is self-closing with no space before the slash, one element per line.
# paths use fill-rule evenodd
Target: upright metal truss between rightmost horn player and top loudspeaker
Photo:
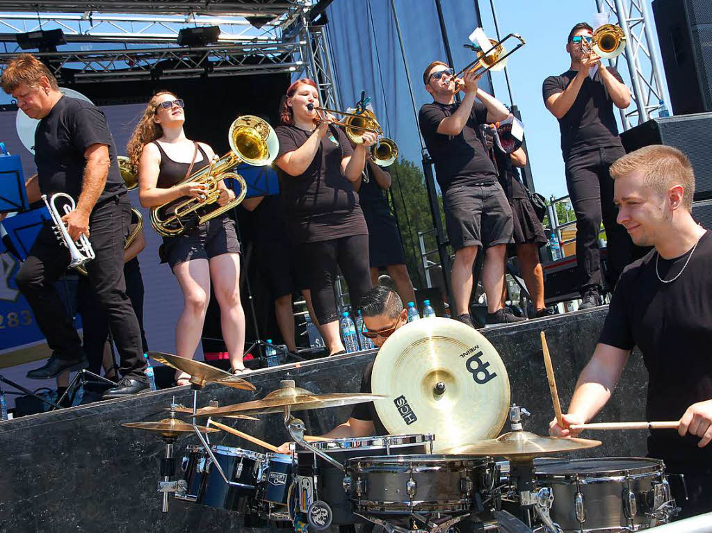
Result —
<path fill-rule="evenodd" d="M 624 130 L 649 120 L 651 112 L 665 101 L 663 82 L 660 75 L 661 63 L 652 35 L 651 19 L 646 0 L 596 0 L 598 11 L 609 9 L 618 17 L 618 23 L 627 36 L 625 51 L 622 53 L 628 65 L 628 73 L 633 88 L 632 110 L 620 110 Z M 617 66 L 618 56 L 609 61 Z M 669 102 L 666 102 L 668 109 Z"/>

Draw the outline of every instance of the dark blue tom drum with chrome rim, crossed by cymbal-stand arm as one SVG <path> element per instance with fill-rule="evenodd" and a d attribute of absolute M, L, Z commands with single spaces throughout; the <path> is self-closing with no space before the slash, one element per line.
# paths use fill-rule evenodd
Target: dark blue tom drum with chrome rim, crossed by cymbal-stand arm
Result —
<path fill-rule="evenodd" d="M 254 497 L 265 464 L 265 455 L 242 448 L 211 446 L 226 477 L 237 485 L 228 485 L 212 461 L 207 458 L 207 475 L 198 503 L 229 511 L 239 510 L 241 500 Z"/>

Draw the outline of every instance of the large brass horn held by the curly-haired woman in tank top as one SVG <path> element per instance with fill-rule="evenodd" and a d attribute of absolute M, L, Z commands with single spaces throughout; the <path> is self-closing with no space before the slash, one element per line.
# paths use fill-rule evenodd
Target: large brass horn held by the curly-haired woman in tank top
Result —
<path fill-rule="evenodd" d="M 232 172 L 242 162 L 255 167 L 272 164 L 279 152 L 277 134 L 270 125 L 259 117 L 244 115 L 238 117 L 229 131 L 231 151 L 218 159 L 215 156 L 210 164 L 188 176 L 181 184 L 194 182 L 204 184 L 206 191 L 203 199 L 179 198 L 151 208 L 151 225 L 164 237 L 177 236 L 196 225 L 229 211 L 244 200 L 247 184 L 240 174 Z M 218 184 L 224 179 L 234 179 L 240 186 L 240 194 L 224 206 L 218 206 L 220 197 Z M 215 204 L 214 209 L 208 209 Z"/>

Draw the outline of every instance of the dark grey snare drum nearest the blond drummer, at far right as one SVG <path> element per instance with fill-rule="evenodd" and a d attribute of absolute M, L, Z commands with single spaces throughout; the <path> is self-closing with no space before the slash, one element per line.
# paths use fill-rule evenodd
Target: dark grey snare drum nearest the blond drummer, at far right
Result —
<path fill-rule="evenodd" d="M 549 460 L 535 462 L 534 476 L 550 488 L 550 517 L 565 532 L 648 529 L 669 522 L 675 507 L 660 460 Z"/>

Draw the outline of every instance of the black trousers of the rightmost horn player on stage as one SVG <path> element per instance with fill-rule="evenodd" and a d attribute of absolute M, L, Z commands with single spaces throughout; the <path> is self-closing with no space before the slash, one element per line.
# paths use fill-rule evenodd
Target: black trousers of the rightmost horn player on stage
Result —
<path fill-rule="evenodd" d="M 569 157 L 565 162 L 566 186 L 576 212 L 576 260 L 579 288 L 604 287 L 598 233 L 603 222 L 608 248 L 607 281 L 612 290 L 632 260 L 633 243 L 616 222 L 613 179 L 608 169 L 625 154 L 621 147 L 603 147 Z"/>

